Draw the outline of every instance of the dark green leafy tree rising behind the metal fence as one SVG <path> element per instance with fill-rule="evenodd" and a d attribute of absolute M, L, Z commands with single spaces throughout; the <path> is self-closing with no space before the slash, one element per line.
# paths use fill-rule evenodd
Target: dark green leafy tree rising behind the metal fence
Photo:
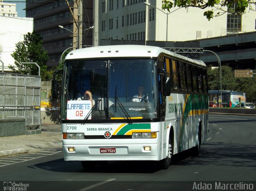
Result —
<path fill-rule="evenodd" d="M 50 80 L 51 72 L 47 71 L 47 52 L 42 47 L 42 38 L 35 32 L 24 34 L 24 40 L 16 44 L 16 49 L 11 56 L 14 58 L 14 65 L 8 68 L 19 74 L 38 75 L 38 67 L 35 64 L 21 64 L 21 62 L 36 62 L 40 66 L 42 80 Z"/>

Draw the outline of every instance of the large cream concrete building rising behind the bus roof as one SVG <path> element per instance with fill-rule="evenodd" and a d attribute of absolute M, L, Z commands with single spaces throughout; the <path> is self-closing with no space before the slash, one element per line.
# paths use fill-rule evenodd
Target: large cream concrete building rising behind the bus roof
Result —
<path fill-rule="evenodd" d="M 145 4 L 150 4 L 147 6 Z M 100 39 L 188 41 L 255 31 L 256 12 L 210 21 L 200 8 L 162 10 L 162 0 L 95 0 L 94 46 Z M 162 10 L 162 11 L 161 11 Z"/>

